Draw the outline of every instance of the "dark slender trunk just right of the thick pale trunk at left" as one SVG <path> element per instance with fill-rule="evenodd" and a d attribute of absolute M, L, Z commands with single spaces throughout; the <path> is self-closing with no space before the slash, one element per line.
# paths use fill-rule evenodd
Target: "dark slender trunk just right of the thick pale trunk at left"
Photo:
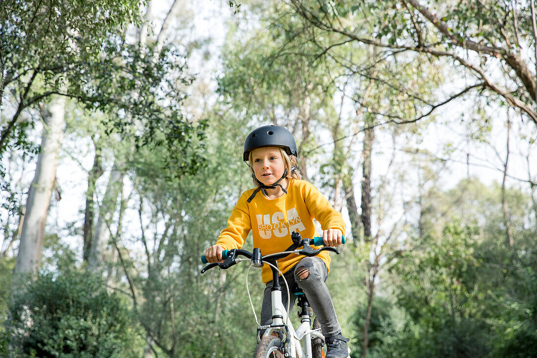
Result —
<path fill-rule="evenodd" d="M 95 219 L 95 202 L 93 197 L 95 196 L 95 185 L 97 179 L 103 175 L 103 166 L 101 164 L 101 148 L 93 137 L 93 146 L 95 146 L 95 158 L 93 159 L 93 166 L 91 167 L 88 175 L 88 190 L 86 191 L 86 209 L 84 211 L 84 226 L 82 229 L 82 238 L 84 242 L 83 260 L 88 262 L 91 251 L 91 241 L 93 239 L 93 219 Z"/>

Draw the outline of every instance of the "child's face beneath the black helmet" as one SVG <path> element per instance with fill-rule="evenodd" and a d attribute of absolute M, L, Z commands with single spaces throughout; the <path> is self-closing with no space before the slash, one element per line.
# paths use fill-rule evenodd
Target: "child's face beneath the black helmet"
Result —
<path fill-rule="evenodd" d="M 285 172 L 285 162 L 278 147 L 262 147 L 252 151 L 252 169 L 257 180 L 265 185 L 277 182 Z"/>

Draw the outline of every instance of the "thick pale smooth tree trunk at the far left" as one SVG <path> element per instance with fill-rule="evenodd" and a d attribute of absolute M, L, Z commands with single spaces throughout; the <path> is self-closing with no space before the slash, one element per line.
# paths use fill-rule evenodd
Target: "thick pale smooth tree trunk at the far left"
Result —
<path fill-rule="evenodd" d="M 20 234 L 19 252 L 14 272 L 35 274 L 41 263 L 41 250 L 50 196 L 56 180 L 56 164 L 63 139 L 66 98 L 54 96 L 43 111 L 41 152 L 35 176 L 26 199 L 26 214 Z"/>

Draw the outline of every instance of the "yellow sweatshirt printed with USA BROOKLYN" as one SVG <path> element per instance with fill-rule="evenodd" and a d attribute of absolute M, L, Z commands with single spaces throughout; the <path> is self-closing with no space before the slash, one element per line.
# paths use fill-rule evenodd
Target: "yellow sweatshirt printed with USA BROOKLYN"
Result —
<path fill-rule="evenodd" d="M 316 232 L 313 219 L 321 223 L 322 230 L 337 228 L 345 234 L 345 223 L 341 213 L 332 208 L 328 200 L 309 182 L 289 180 L 287 194 L 277 199 L 269 199 L 262 192 L 248 203 L 253 190 L 241 195 L 231 211 L 228 227 L 220 233 L 217 245 L 224 249 L 241 248 L 252 230 L 253 247 L 258 247 L 262 255 L 282 252 L 293 241 L 293 231 L 299 232 L 302 238 L 321 236 Z M 317 255 L 330 269 L 330 256 L 323 251 Z M 286 273 L 295 266 L 302 257 L 291 254 L 278 261 L 279 269 Z M 267 283 L 272 280 L 272 272 L 268 265 L 263 266 L 262 280 Z"/>

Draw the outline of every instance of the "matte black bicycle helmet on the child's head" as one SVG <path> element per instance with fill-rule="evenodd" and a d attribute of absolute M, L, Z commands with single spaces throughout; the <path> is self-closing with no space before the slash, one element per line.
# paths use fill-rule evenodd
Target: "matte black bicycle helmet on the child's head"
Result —
<path fill-rule="evenodd" d="M 248 156 L 253 149 L 261 147 L 281 147 L 289 155 L 298 157 L 296 142 L 293 134 L 284 127 L 273 124 L 253 130 L 244 141 L 243 160 L 248 162 Z"/>

